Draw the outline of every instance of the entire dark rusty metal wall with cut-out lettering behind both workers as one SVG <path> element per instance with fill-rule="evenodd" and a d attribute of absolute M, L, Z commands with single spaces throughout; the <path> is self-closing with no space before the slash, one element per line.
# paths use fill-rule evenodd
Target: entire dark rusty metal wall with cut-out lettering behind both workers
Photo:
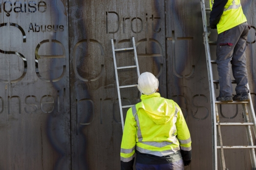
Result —
<path fill-rule="evenodd" d="M 153 72 L 161 95 L 176 101 L 186 118 L 193 162 L 185 169 L 212 168 L 199 0 L 15 2 L 0 1 L 0 169 L 120 168 L 122 128 L 111 38 L 121 48 L 132 46 L 132 36 L 140 72 Z M 256 26 L 255 2 L 241 4 L 249 25 Z M 211 32 L 210 40 L 216 40 L 216 30 Z M 246 51 L 253 103 L 254 40 L 255 28 Z M 211 46 L 213 58 L 215 50 Z M 133 64 L 132 52 L 117 54 L 118 66 Z M 136 82 L 136 69 L 119 71 L 121 85 Z M 122 89 L 121 96 L 125 105 L 140 101 L 137 88 Z M 236 110 L 222 107 L 222 122 L 242 122 L 242 108 Z M 247 144 L 245 129 L 222 132 L 226 145 Z M 229 169 L 251 169 L 248 151 L 225 155 Z"/>

